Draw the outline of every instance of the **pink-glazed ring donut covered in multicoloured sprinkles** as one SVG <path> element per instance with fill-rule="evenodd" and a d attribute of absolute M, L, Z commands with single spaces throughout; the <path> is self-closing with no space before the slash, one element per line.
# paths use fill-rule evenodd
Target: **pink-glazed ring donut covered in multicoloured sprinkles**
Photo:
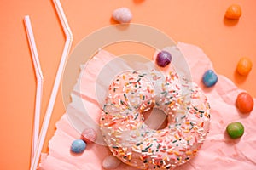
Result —
<path fill-rule="evenodd" d="M 191 160 L 209 131 L 210 106 L 194 83 L 189 93 L 183 86 L 173 72 L 125 71 L 116 76 L 100 118 L 113 155 L 140 169 L 172 169 Z M 152 108 L 166 114 L 165 128 L 145 124 L 143 113 Z"/>

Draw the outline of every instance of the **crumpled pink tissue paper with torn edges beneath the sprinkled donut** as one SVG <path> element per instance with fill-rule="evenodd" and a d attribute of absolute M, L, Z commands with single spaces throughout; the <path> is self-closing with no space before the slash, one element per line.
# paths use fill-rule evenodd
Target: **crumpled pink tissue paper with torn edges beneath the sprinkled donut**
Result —
<path fill-rule="evenodd" d="M 201 82 L 201 77 L 208 69 L 213 69 L 212 62 L 207 55 L 195 45 L 183 42 L 177 43 L 177 48 L 183 53 L 188 62 L 193 82 L 199 84 L 203 89 L 211 105 L 211 127 L 198 155 L 177 170 L 203 170 L 203 169 L 232 169 L 232 170 L 253 170 L 256 169 L 256 109 L 247 116 L 242 115 L 236 109 L 236 96 L 241 90 L 227 77 L 218 75 L 218 82 L 213 88 L 205 88 Z M 100 116 L 99 106 L 95 97 L 95 92 L 89 90 L 95 86 L 96 75 L 102 67 L 111 59 L 113 54 L 101 50 L 91 59 L 87 65 L 90 71 L 87 77 L 80 76 L 87 86 L 79 89 L 87 110 L 91 111 L 90 117 L 98 121 Z M 84 74 L 85 75 L 85 74 Z M 90 77 L 88 77 L 90 75 Z M 91 86 L 91 87 L 90 87 Z M 78 89 L 73 89 L 74 96 Z M 86 97 L 87 96 L 87 97 Z M 256 103 L 256 99 L 253 99 Z M 69 111 L 77 111 L 75 102 L 68 105 Z M 225 128 L 230 122 L 241 122 L 245 127 L 245 133 L 241 139 L 230 139 L 225 133 Z M 97 132 L 100 133 L 100 132 Z M 44 170 L 103 170 L 103 159 L 111 154 L 107 146 L 101 144 L 88 144 L 86 150 L 80 155 L 70 152 L 70 146 L 74 139 L 79 139 L 80 134 L 76 131 L 68 120 L 65 113 L 59 122 L 56 123 L 55 135 L 49 141 L 49 153 L 43 153 L 38 169 Z M 135 170 L 121 163 L 115 170 Z"/>

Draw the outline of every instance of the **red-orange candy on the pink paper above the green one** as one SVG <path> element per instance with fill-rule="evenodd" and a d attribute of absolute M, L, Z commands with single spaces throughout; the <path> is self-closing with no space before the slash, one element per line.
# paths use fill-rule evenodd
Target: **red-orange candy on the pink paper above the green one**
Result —
<path fill-rule="evenodd" d="M 241 113 L 249 113 L 253 111 L 253 98 L 246 92 L 241 92 L 236 98 L 236 107 Z"/>

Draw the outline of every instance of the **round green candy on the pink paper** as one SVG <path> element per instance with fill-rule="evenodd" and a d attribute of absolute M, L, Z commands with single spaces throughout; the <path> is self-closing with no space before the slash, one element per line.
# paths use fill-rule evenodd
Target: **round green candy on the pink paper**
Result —
<path fill-rule="evenodd" d="M 230 138 L 237 139 L 240 138 L 244 133 L 244 127 L 241 122 L 231 122 L 226 129 Z"/>

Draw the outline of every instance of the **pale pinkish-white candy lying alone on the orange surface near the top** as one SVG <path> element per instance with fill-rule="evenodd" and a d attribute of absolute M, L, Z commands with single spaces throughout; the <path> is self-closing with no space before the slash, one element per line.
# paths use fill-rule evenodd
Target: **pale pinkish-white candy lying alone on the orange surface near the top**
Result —
<path fill-rule="evenodd" d="M 117 8 L 113 11 L 113 19 L 119 23 L 128 23 L 132 19 L 131 10 L 129 8 Z"/>

